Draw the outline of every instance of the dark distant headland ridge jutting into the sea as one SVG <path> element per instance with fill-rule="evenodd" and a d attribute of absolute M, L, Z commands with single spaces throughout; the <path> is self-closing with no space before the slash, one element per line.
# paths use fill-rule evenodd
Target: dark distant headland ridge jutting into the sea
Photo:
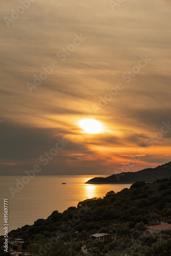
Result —
<path fill-rule="evenodd" d="M 113 174 L 109 177 L 95 177 L 88 180 L 87 184 L 108 184 L 108 183 L 134 183 L 136 181 L 153 182 L 162 178 L 171 177 L 171 161 L 155 168 L 146 168 L 138 172 L 123 172 Z"/>

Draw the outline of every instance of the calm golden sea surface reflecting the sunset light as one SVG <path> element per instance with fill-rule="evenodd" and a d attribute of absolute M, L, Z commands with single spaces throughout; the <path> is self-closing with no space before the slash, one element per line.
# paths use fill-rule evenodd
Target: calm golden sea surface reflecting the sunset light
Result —
<path fill-rule="evenodd" d="M 106 177 L 101 176 L 100 177 Z M 62 212 L 87 198 L 103 197 L 114 190 L 118 192 L 131 184 L 84 184 L 95 176 L 35 176 L 12 197 L 9 187 L 16 188 L 16 179 L 23 176 L 0 176 L 0 235 L 4 234 L 4 198 L 8 198 L 9 231 L 32 225 L 37 219 L 46 219 L 52 211 Z M 63 185 L 62 182 L 67 184 Z"/>

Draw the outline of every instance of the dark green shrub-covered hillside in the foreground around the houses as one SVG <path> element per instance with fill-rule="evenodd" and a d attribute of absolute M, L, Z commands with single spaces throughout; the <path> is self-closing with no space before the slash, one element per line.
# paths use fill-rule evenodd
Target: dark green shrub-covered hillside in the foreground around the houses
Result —
<path fill-rule="evenodd" d="M 171 230 L 161 232 L 161 243 L 160 234 L 144 232 L 146 226 L 159 224 L 160 216 L 167 216 L 171 224 L 170 185 L 171 178 L 136 182 L 103 199 L 84 200 L 62 213 L 53 211 L 46 220 L 13 230 L 13 236 L 25 240 L 24 250 L 31 255 L 69 256 L 70 234 L 75 231 L 79 232 L 72 234 L 73 256 L 171 255 Z M 94 233 L 111 233 L 112 242 L 90 240 Z M 4 255 L 2 238 L 0 242 Z"/>

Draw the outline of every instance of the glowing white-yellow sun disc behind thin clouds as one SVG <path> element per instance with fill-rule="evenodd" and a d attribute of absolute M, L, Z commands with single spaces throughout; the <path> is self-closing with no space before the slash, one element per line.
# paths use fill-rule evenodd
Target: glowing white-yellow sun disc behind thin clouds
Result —
<path fill-rule="evenodd" d="M 100 133 L 103 130 L 101 123 L 95 119 L 83 119 L 79 121 L 79 125 L 86 133 Z"/>

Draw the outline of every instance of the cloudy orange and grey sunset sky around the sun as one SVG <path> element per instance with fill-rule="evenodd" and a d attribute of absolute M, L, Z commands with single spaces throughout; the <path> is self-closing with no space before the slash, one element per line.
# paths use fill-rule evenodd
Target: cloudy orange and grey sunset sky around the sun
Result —
<path fill-rule="evenodd" d="M 1 175 L 169 162 L 170 12 L 169 0 L 0 0 Z"/>

